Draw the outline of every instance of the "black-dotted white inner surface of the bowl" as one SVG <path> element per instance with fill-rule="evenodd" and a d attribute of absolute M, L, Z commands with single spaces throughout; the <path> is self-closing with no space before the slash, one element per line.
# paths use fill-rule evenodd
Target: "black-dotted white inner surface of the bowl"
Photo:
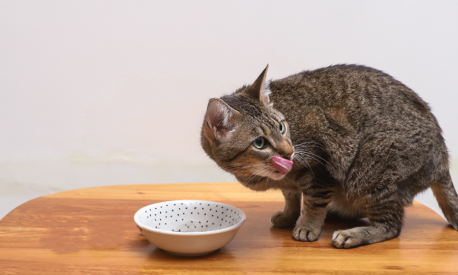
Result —
<path fill-rule="evenodd" d="M 245 220 L 242 210 L 210 201 L 169 201 L 140 211 L 139 221 L 153 229 L 174 232 L 207 232 L 237 225 Z"/>

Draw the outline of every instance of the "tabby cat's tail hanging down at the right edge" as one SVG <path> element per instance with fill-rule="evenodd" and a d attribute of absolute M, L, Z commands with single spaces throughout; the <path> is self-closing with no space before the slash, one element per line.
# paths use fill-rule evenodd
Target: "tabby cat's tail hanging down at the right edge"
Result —
<path fill-rule="evenodd" d="M 431 189 L 445 218 L 458 231 L 458 195 L 453 187 L 450 173 L 447 171 L 438 182 L 431 186 Z"/>

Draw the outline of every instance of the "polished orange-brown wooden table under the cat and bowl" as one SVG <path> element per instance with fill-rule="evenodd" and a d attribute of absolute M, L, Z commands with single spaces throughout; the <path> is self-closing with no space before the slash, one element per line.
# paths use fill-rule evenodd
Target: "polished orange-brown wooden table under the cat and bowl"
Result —
<path fill-rule="evenodd" d="M 169 255 L 140 234 L 134 213 L 177 199 L 223 202 L 242 209 L 235 239 L 202 257 Z M 328 222 L 316 242 L 272 227 L 283 208 L 276 191 L 254 193 L 239 183 L 151 184 L 65 191 L 22 204 L 0 221 L 0 274 L 458 274 L 458 232 L 415 203 L 393 240 L 338 250 Z"/>

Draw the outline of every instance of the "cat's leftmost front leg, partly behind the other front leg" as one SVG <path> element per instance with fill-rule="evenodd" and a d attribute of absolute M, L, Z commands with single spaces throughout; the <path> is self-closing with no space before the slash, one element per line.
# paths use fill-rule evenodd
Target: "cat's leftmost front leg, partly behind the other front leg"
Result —
<path fill-rule="evenodd" d="M 291 190 L 282 190 L 282 192 L 284 209 L 273 214 L 270 221 L 276 227 L 293 227 L 301 214 L 301 193 Z"/>

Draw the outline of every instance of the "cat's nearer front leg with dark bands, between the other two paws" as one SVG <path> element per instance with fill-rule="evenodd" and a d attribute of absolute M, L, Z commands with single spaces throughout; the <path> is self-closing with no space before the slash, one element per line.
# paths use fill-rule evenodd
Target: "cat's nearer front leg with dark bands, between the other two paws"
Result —
<path fill-rule="evenodd" d="M 326 208 L 331 202 L 330 189 L 310 188 L 304 191 L 301 223 L 293 230 L 293 237 L 300 241 L 316 241 L 320 237 L 326 218 Z"/>

